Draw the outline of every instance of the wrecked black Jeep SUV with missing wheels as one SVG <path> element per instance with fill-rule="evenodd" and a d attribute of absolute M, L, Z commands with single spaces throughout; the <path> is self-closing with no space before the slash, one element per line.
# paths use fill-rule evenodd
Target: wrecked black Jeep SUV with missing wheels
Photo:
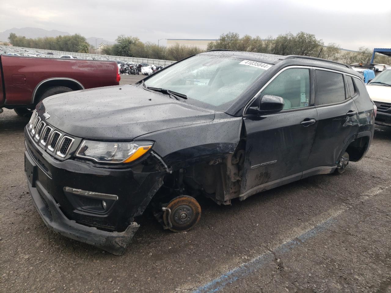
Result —
<path fill-rule="evenodd" d="M 217 204 L 359 161 L 376 106 L 348 65 L 212 50 L 134 85 L 63 93 L 25 127 L 25 172 L 46 225 L 122 254 L 151 205 L 165 229 Z"/>

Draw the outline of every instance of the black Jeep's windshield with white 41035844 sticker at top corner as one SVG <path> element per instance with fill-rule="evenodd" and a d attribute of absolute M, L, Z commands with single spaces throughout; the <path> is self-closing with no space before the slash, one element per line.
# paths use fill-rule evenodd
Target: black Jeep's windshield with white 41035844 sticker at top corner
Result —
<path fill-rule="evenodd" d="M 145 80 L 188 97 L 189 104 L 225 111 L 270 64 L 215 55 L 196 55 Z"/>

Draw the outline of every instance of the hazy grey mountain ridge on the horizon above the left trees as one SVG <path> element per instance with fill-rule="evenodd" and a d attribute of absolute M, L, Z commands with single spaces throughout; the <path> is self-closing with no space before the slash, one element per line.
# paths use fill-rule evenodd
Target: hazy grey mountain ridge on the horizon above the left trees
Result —
<path fill-rule="evenodd" d="M 9 30 L 5 30 L 4 32 L 0 32 L 0 41 L 8 41 L 9 34 L 14 32 L 17 36 L 25 36 L 26 38 L 43 38 L 43 37 L 57 37 L 57 36 L 69 36 L 69 32 L 61 32 L 59 30 L 44 30 L 39 29 L 38 27 L 22 27 L 20 29 L 14 27 Z M 100 43 L 104 43 L 106 45 L 113 45 L 115 42 L 111 42 L 101 38 L 87 38 L 87 43 L 91 44 L 95 47 L 95 39 L 96 45 L 99 46 Z"/>

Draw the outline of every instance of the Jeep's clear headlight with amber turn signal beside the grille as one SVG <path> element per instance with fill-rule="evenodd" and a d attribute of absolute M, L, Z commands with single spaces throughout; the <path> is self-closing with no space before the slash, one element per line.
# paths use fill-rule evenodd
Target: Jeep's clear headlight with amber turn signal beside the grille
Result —
<path fill-rule="evenodd" d="M 100 163 L 130 163 L 152 148 L 152 141 L 111 142 L 83 140 L 76 157 Z"/>

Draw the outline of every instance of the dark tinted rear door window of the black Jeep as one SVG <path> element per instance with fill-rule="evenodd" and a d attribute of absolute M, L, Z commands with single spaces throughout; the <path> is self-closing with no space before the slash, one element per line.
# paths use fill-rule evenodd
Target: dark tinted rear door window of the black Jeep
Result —
<path fill-rule="evenodd" d="M 345 100 L 343 75 L 331 71 L 316 70 L 315 104 L 326 105 Z"/>

